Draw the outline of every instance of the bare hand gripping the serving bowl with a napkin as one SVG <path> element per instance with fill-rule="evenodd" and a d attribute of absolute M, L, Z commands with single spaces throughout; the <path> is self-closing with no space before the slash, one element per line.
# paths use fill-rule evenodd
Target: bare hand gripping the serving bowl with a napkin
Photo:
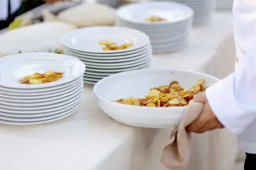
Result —
<path fill-rule="evenodd" d="M 220 129 L 224 127 L 212 112 L 205 92 L 198 93 L 197 95 L 194 95 L 193 98 L 195 102 L 204 103 L 204 109 L 198 118 L 192 122 L 192 124 L 186 127 L 187 133 L 204 133 L 208 130 Z"/>

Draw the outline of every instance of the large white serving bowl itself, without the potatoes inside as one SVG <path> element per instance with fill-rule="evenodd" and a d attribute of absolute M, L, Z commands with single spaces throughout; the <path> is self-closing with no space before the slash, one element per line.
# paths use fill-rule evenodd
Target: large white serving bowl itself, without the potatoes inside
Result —
<path fill-rule="evenodd" d="M 169 85 L 177 81 L 181 87 L 190 89 L 199 79 L 203 86 L 219 81 L 211 75 L 175 70 L 145 69 L 121 72 L 99 81 L 93 88 L 98 106 L 116 121 L 138 127 L 172 128 L 180 124 L 184 107 L 142 107 L 113 102 L 121 98 L 145 98 L 152 87 Z M 112 100 L 112 101 L 111 101 Z"/>

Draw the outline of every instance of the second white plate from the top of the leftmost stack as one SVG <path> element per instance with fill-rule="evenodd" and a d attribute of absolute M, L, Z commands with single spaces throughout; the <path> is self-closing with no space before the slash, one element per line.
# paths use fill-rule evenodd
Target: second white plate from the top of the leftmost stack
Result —
<path fill-rule="evenodd" d="M 0 87 L 0 93 L 5 95 L 17 95 L 17 96 L 40 96 L 48 95 L 54 92 L 62 92 L 65 89 L 70 88 L 73 84 L 78 83 L 82 79 L 82 76 L 73 82 L 63 84 L 57 87 L 49 87 L 46 89 L 8 89 L 5 87 Z"/>

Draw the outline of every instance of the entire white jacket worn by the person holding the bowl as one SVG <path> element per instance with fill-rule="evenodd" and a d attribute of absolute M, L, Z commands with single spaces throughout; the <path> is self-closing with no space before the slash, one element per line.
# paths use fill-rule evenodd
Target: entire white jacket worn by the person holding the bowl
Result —
<path fill-rule="evenodd" d="M 206 96 L 218 120 L 238 135 L 240 149 L 256 154 L 256 0 L 234 0 L 233 16 L 239 70 Z"/>

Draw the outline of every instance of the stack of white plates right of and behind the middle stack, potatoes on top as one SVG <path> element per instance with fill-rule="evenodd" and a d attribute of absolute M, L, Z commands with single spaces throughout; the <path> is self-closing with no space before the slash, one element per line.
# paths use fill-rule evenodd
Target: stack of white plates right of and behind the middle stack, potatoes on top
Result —
<path fill-rule="evenodd" d="M 118 26 L 138 29 L 150 37 L 153 52 L 170 52 L 186 47 L 192 28 L 193 10 L 172 2 L 141 2 L 119 8 Z M 150 16 L 166 21 L 148 22 Z"/>

